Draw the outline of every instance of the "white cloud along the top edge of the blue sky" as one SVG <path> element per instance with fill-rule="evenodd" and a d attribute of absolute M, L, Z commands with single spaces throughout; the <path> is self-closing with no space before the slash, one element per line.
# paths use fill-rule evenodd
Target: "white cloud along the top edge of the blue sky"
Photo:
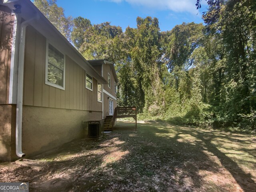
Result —
<path fill-rule="evenodd" d="M 126 1 L 132 5 L 154 8 L 157 10 L 172 10 L 174 12 L 190 12 L 196 14 L 196 0 L 108 0 L 115 3 Z M 202 2 L 203 3 L 203 2 Z"/>

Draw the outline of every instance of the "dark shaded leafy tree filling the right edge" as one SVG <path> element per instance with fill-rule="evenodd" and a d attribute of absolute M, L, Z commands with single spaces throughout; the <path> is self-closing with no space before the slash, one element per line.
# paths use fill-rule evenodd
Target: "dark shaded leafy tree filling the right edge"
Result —
<path fill-rule="evenodd" d="M 203 18 L 209 33 L 223 47 L 217 62 L 222 70 L 219 112 L 228 124 L 254 127 L 256 4 L 251 0 L 210 0 L 208 5 Z"/>

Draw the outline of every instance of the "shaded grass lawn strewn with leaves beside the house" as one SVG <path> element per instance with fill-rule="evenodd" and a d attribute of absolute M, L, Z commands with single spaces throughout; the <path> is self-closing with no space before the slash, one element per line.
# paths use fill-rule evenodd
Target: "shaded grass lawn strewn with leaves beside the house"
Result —
<path fill-rule="evenodd" d="M 1 182 L 30 191 L 256 191 L 256 136 L 118 122 L 97 141 L 76 140 L 37 159 L 37 171 L 0 164 Z"/>

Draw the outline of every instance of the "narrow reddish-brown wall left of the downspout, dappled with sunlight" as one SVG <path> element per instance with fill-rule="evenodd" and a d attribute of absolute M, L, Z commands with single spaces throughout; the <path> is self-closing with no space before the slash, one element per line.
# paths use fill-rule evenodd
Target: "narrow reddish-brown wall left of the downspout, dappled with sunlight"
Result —
<path fill-rule="evenodd" d="M 0 5 L 0 161 L 15 155 L 16 105 L 9 104 L 14 15 Z"/>

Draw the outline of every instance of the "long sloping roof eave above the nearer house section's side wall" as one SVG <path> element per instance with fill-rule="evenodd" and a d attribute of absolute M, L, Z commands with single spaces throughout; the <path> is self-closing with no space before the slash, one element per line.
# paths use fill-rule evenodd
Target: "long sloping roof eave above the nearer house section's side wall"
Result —
<path fill-rule="evenodd" d="M 92 67 L 92 65 L 74 48 L 74 46 L 56 29 L 56 27 L 40 12 L 40 10 L 30 0 L 16 0 L 13 2 L 3 3 L 3 6 L 8 6 L 11 10 L 15 10 L 14 5 L 21 6 L 21 13 L 16 14 L 16 17 L 21 17 L 23 20 L 35 18 L 29 24 L 38 32 L 45 36 L 53 45 L 58 45 L 58 49 L 69 56 L 88 74 L 96 78 L 101 84 L 108 82 Z M 20 18 L 20 20 L 21 20 Z"/>

